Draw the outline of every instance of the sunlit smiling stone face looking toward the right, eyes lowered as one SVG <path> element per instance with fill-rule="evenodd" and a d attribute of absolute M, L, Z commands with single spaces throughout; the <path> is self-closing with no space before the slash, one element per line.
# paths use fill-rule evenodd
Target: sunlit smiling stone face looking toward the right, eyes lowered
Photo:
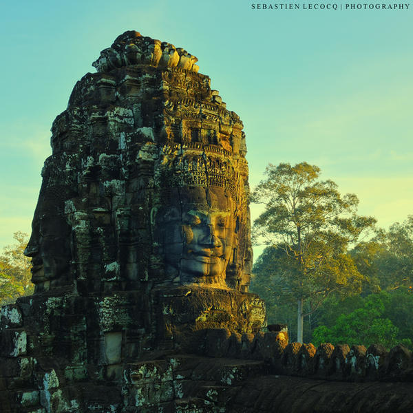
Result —
<path fill-rule="evenodd" d="M 224 286 L 235 240 L 232 198 L 217 187 L 180 188 L 171 198 L 158 211 L 167 275 Z"/>

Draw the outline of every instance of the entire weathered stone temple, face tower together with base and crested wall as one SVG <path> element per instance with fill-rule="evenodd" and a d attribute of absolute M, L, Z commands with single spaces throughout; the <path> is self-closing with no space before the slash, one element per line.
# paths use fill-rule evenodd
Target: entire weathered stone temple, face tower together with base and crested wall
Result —
<path fill-rule="evenodd" d="M 412 412 L 407 348 L 262 331 L 242 123 L 196 61 L 125 32 L 54 121 L 0 412 Z"/>

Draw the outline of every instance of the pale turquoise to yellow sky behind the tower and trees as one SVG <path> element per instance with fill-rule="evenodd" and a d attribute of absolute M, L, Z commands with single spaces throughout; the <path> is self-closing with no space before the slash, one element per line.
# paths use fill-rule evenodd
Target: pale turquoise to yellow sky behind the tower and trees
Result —
<path fill-rule="evenodd" d="M 6 1 L 0 248 L 13 242 L 15 231 L 30 233 L 52 121 L 76 81 L 95 72 L 100 50 L 125 30 L 198 57 L 200 73 L 244 123 L 252 186 L 270 162 L 306 161 L 342 193 L 356 193 L 359 213 L 379 226 L 412 214 L 413 3 L 403 10 L 346 10 L 357 4 L 350 0 L 287 3 L 298 10 L 257 10 L 257 4 Z M 315 4 L 337 4 L 337 10 L 314 10 Z M 257 213 L 253 206 L 253 218 Z"/>

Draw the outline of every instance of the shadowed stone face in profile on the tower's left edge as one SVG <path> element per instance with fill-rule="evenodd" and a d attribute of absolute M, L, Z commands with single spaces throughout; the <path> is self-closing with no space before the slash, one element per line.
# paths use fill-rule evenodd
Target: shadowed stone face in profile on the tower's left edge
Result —
<path fill-rule="evenodd" d="M 40 284 L 62 277 L 70 264 L 70 226 L 60 213 L 59 200 L 39 196 L 32 235 L 25 255 L 32 257 L 32 282 Z"/>

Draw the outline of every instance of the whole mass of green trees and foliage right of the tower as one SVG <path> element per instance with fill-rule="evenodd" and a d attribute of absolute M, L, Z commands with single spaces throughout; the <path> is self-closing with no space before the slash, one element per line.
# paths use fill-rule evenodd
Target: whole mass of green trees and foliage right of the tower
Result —
<path fill-rule="evenodd" d="M 319 168 L 270 165 L 266 174 L 253 192 L 265 204 L 254 237 L 270 246 L 251 290 L 266 301 L 268 321 L 288 324 L 293 337 L 301 297 L 304 341 L 413 349 L 413 215 L 359 242 L 375 220 L 356 215 L 355 195 L 317 180 Z"/>

